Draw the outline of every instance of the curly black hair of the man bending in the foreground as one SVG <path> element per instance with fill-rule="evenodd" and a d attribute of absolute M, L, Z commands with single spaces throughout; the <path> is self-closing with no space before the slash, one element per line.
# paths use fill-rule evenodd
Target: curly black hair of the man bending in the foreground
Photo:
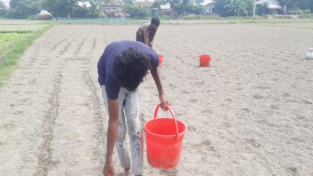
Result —
<path fill-rule="evenodd" d="M 122 87 L 127 91 L 135 91 L 150 67 L 149 56 L 130 47 L 116 55 L 112 72 Z"/>

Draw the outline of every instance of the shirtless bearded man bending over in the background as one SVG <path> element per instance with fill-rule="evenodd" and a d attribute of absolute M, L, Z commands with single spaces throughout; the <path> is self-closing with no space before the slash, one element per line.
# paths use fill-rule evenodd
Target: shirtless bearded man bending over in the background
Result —
<path fill-rule="evenodd" d="M 159 18 L 155 17 L 151 19 L 151 23 L 143 24 L 136 33 L 136 41 L 148 45 L 152 48 L 153 39 L 156 34 L 156 30 L 160 25 Z"/>

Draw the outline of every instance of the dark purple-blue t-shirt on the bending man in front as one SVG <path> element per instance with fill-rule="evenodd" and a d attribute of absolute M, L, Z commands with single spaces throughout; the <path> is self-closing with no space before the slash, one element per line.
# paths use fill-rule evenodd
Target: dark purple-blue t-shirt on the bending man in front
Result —
<path fill-rule="evenodd" d="M 113 61 L 117 54 L 129 49 L 129 47 L 136 47 L 144 54 L 150 56 L 150 65 L 152 68 L 156 68 L 159 65 L 159 57 L 156 52 L 141 42 L 124 40 L 108 44 L 98 62 L 98 82 L 100 85 L 105 85 L 106 95 L 111 100 L 118 99 L 121 89 L 120 83 L 112 73 Z"/>

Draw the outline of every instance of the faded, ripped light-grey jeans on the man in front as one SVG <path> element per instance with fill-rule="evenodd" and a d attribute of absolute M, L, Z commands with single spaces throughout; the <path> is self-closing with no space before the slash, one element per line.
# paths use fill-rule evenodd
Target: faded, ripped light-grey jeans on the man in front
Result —
<path fill-rule="evenodd" d="M 101 91 L 106 111 L 109 114 L 105 85 L 101 85 Z M 119 93 L 119 106 L 119 125 L 115 141 L 115 149 L 122 168 L 129 168 L 132 165 L 131 174 L 141 175 L 143 173 L 143 136 L 140 122 L 140 87 L 138 86 L 134 92 L 127 91 L 124 87 L 121 87 Z M 127 128 L 130 137 L 131 158 L 129 156 L 126 141 Z"/>

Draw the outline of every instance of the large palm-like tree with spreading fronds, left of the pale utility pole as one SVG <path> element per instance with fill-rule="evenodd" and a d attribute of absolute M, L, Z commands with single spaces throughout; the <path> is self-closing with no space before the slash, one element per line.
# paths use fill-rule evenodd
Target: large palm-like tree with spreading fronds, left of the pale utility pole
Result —
<path fill-rule="evenodd" d="M 230 4 L 225 5 L 227 7 L 227 13 L 230 13 L 232 16 L 242 16 L 243 14 L 248 14 L 246 8 L 248 5 L 242 0 L 230 0 Z"/>

